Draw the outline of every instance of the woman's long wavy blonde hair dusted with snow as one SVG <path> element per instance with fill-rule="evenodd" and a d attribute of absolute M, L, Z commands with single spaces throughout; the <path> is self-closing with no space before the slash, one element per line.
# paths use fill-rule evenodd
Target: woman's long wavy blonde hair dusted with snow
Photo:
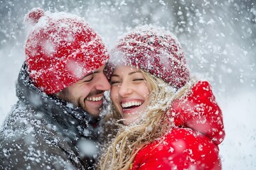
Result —
<path fill-rule="evenodd" d="M 166 114 L 170 114 L 171 102 L 182 96 L 188 87 L 184 86 L 176 91 L 162 79 L 143 70 L 142 73 L 151 91 L 148 107 L 139 121 L 126 126 L 118 123 L 121 116 L 112 106 L 107 119 L 114 122 L 112 125 L 118 127 L 118 132 L 114 139 L 110 140 L 108 147 L 103 149 L 98 169 L 129 169 L 140 149 L 154 140 L 160 140 L 160 137 L 174 127 L 172 116 Z"/>

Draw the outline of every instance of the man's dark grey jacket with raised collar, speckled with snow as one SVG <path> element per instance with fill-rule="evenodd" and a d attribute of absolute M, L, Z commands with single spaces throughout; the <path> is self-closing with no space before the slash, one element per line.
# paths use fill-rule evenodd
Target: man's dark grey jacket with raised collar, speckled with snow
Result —
<path fill-rule="evenodd" d="M 24 63 L 0 132 L 0 169 L 95 169 L 98 120 L 39 91 Z"/>

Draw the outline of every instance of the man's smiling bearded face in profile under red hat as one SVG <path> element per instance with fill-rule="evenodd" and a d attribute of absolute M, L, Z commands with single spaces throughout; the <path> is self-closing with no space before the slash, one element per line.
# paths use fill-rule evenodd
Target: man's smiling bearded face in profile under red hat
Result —
<path fill-rule="evenodd" d="M 105 65 L 87 74 L 80 81 L 60 91 L 57 96 L 75 106 L 83 108 L 90 115 L 98 117 L 103 103 L 103 93 L 110 89 L 110 83 L 104 74 Z"/>

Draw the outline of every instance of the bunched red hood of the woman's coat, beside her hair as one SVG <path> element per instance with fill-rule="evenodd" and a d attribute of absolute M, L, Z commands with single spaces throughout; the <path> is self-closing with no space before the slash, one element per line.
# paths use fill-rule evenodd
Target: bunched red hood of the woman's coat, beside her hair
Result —
<path fill-rule="evenodd" d="M 185 98 L 174 101 L 171 114 L 176 126 L 201 132 L 216 145 L 225 137 L 222 111 L 207 81 L 199 81 Z"/>

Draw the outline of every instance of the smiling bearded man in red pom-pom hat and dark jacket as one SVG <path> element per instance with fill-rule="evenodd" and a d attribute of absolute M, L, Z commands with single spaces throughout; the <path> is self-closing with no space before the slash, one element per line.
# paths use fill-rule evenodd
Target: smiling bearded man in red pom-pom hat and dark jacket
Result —
<path fill-rule="evenodd" d="M 0 132 L 0 169 L 95 169 L 109 55 L 85 21 L 33 8 L 18 102 Z"/>

